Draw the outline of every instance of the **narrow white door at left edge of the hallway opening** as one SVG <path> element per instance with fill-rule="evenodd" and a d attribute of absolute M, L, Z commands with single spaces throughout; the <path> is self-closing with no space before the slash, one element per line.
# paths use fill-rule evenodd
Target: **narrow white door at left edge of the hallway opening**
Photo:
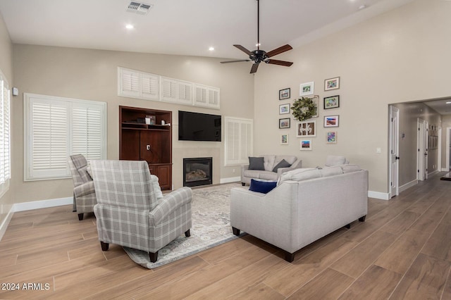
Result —
<path fill-rule="evenodd" d="M 400 194 L 400 109 L 390 105 L 388 130 L 388 199 Z"/>

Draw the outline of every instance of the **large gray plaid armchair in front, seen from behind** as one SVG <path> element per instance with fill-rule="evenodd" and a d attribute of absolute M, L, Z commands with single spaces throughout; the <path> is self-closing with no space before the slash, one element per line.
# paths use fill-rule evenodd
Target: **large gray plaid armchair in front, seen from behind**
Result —
<path fill-rule="evenodd" d="M 109 243 L 149 252 L 154 263 L 159 249 L 185 233 L 190 236 L 191 199 L 182 187 L 157 199 L 146 161 L 91 161 L 97 194 L 94 213 L 101 249 Z"/>

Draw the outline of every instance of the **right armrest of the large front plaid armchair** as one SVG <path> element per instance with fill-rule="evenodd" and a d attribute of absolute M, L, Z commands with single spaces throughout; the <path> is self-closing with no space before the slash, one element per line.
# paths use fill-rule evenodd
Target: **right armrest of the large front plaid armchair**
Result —
<path fill-rule="evenodd" d="M 163 196 L 156 208 L 149 212 L 149 224 L 158 225 L 181 206 L 191 205 L 191 200 L 192 191 L 189 187 L 181 187 Z"/>

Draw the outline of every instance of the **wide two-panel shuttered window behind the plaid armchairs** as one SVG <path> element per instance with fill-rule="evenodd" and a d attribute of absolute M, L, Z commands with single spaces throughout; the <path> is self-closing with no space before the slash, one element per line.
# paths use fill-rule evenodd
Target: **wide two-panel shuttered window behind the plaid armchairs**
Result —
<path fill-rule="evenodd" d="M 68 156 L 106 158 L 104 102 L 24 94 L 25 180 L 70 177 Z"/>

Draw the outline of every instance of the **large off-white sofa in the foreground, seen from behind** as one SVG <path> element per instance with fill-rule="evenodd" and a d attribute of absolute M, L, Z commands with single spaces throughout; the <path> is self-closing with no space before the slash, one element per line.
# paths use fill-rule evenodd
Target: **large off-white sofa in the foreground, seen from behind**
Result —
<path fill-rule="evenodd" d="M 243 187 L 230 194 L 230 225 L 285 251 L 295 252 L 317 239 L 365 220 L 368 211 L 368 171 L 358 165 L 304 168 L 284 173 L 267 194 Z"/>

